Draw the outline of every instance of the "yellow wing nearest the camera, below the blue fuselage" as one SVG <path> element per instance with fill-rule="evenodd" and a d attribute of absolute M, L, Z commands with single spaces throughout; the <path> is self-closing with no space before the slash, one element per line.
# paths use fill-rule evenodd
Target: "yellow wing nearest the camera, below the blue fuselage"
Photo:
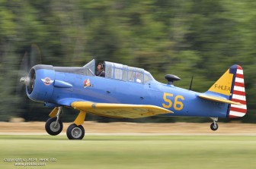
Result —
<path fill-rule="evenodd" d="M 129 105 L 115 103 L 72 102 L 71 106 L 80 111 L 106 117 L 139 118 L 158 114 L 173 113 L 155 105 Z"/>

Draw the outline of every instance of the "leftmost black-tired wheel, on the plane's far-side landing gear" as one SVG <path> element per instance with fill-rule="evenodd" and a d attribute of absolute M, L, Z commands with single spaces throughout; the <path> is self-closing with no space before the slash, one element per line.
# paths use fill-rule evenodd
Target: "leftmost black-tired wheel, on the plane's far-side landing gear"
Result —
<path fill-rule="evenodd" d="M 46 132 L 52 136 L 58 135 L 59 133 L 62 132 L 62 129 L 63 129 L 63 124 L 61 120 L 59 120 L 59 123 L 57 124 L 57 126 L 54 127 L 56 124 L 56 120 L 57 120 L 57 117 L 52 117 L 46 120 L 46 125 L 45 125 Z"/>

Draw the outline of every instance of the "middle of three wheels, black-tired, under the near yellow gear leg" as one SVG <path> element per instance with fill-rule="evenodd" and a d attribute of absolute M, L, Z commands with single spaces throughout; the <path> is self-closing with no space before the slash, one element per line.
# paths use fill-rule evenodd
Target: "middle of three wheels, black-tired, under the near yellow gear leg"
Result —
<path fill-rule="evenodd" d="M 71 124 L 66 133 L 69 139 L 82 139 L 85 136 L 85 129 L 82 125 Z"/>

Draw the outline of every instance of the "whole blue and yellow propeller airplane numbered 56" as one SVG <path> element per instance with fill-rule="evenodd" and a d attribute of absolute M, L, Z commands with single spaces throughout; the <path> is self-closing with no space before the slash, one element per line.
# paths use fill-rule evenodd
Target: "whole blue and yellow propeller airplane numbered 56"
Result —
<path fill-rule="evenodd" d="M 203 93 L 174 86 L 174 81 L 181 79 L 171 74 L 165 75 L 168 83 L 164 84 L 146 70 L 123 64 L 104 61 L 98 65 L 103 76 L 96 76 L 94 70 L 94 60 L 84 67 L 38 64 L 21 78 L 31 100 L 53 108 L 45 125 L 47 133 L 61 133 L 64 106 L 80 111 L 66 130 L 69 139 L 85 136 L 82 124 L 87 113 L 117 118 L 210 117 L 210 128 L 217 130 L 218 117 L 243 117 L 247 111 L 243 70 L 238 65 Z"/>

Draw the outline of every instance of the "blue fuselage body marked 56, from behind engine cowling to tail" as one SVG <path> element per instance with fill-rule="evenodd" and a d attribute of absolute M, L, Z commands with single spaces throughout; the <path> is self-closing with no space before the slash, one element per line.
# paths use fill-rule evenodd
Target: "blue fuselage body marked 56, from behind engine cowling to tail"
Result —
<path fill-rule="evenodd" d="M 62 105 L 65 100 L 88 102 L 157 105 L 173 111 L 164 116 L 226 117 L 227 104 L 210 102 L 197 97 L 198 92 L 159 83 L 136 83 L 104 77 L 55 72 L 55 79 L 72 84 L 72 88 L 54 87 L 49 102 Z M 89 80 L 91 86 L 84 86 Z"/>

